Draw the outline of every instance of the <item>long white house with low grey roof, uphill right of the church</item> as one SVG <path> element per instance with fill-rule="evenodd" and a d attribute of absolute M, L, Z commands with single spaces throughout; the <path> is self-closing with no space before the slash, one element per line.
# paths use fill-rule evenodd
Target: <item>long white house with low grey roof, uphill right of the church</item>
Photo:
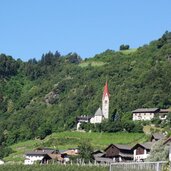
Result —
<path fill-rule="evenodd" d="M 133 121 L 136 120 L 151 120 L 160 111 L 159 108 L 141 108 L 132 111 Z"/>

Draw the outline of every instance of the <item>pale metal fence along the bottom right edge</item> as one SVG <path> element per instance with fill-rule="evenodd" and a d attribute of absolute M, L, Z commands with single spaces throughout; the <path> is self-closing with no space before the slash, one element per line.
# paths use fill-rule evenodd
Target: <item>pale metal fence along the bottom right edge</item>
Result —
<path fill-rule="evenodd" d="M 168 162 L 111 163 L 109 171 L 171 171 Z"/>

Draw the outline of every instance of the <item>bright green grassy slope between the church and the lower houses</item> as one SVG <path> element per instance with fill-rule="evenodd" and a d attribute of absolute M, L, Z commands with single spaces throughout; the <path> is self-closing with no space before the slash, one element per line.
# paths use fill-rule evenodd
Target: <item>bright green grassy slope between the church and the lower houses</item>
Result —
<path fill-rule="evenodd" d="M 82 141 L 89 141 L 94 149 L 104 150 L 109 144 L 129 144 L 146 141 L 143 133 L 97 133 L 97 132 L 59 132 L 47 136 L 44 140 L 29 140 L 11 146 L 14 153 L 4 158 L 6 162 L 23 162 L 25 152 L 36 147 L 51 147 L 59 150 L 77 147 Z"/>

